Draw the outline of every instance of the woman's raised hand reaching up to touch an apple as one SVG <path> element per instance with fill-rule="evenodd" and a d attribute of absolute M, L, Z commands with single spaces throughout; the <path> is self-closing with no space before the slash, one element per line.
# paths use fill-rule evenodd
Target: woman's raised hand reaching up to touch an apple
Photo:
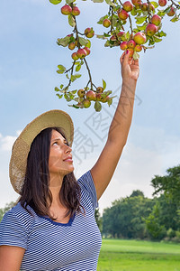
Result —
<path fill-rule="evenodd" d="M 124 81 L 137 80 L 139 78 L 139 60 L 134 61 L 129 57 L 130 52 L 124 51 L 121 55 L 121 77 Z"/>

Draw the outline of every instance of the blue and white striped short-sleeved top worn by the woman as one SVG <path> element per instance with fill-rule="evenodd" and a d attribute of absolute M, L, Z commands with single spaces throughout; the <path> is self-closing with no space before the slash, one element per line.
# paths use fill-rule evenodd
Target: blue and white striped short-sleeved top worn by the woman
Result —
<path fill-rule="evenodd" d="M 101 248 L 101 234 L 94 219 L 97 207 L 91 172 L 77 182 L 85 215 L 75 214 L 68 223 L 33 217 L 20 203 L 4 214 L 0 223 L 0 246 L 25 248 L 21 271 L 94 271 Z"/>

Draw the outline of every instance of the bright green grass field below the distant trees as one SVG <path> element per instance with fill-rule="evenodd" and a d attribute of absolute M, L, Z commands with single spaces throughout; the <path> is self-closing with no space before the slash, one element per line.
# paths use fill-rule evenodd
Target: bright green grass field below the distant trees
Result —
<path fill-rule="evenodd" d="M 180 244 L 103 239 L 97 271 L 180 271 Z"/>

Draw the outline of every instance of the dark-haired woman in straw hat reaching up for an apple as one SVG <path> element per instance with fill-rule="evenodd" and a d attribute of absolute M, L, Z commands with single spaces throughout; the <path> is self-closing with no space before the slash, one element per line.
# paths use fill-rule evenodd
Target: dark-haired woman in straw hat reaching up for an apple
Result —
<path fill-rule="evenodd" d="M 40 115 L 15 141 L 10 180 L 21 197 L 0 224 L 0 271 L 96 270 L 101 235 L 94 209 L 126 144 L 139 77 L 139 61 L 129 52 L 121 56 L 121 76 L 121 97 L 103 152 L 77 182 L 67 113 Z"/>

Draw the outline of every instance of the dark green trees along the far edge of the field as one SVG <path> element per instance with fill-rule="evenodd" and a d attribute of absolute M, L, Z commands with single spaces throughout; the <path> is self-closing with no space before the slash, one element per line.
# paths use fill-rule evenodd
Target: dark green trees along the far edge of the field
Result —
<path fill-rule="evenodd" d="M 95 219 L 105 238 L 136 238 L 180 242 L 180 165 L 151 180 L 153 198 L 133 191 L 112 202 L 112 207 L 95 210 Z M 14 202 L 0 209 L 0 220 Z"/>

